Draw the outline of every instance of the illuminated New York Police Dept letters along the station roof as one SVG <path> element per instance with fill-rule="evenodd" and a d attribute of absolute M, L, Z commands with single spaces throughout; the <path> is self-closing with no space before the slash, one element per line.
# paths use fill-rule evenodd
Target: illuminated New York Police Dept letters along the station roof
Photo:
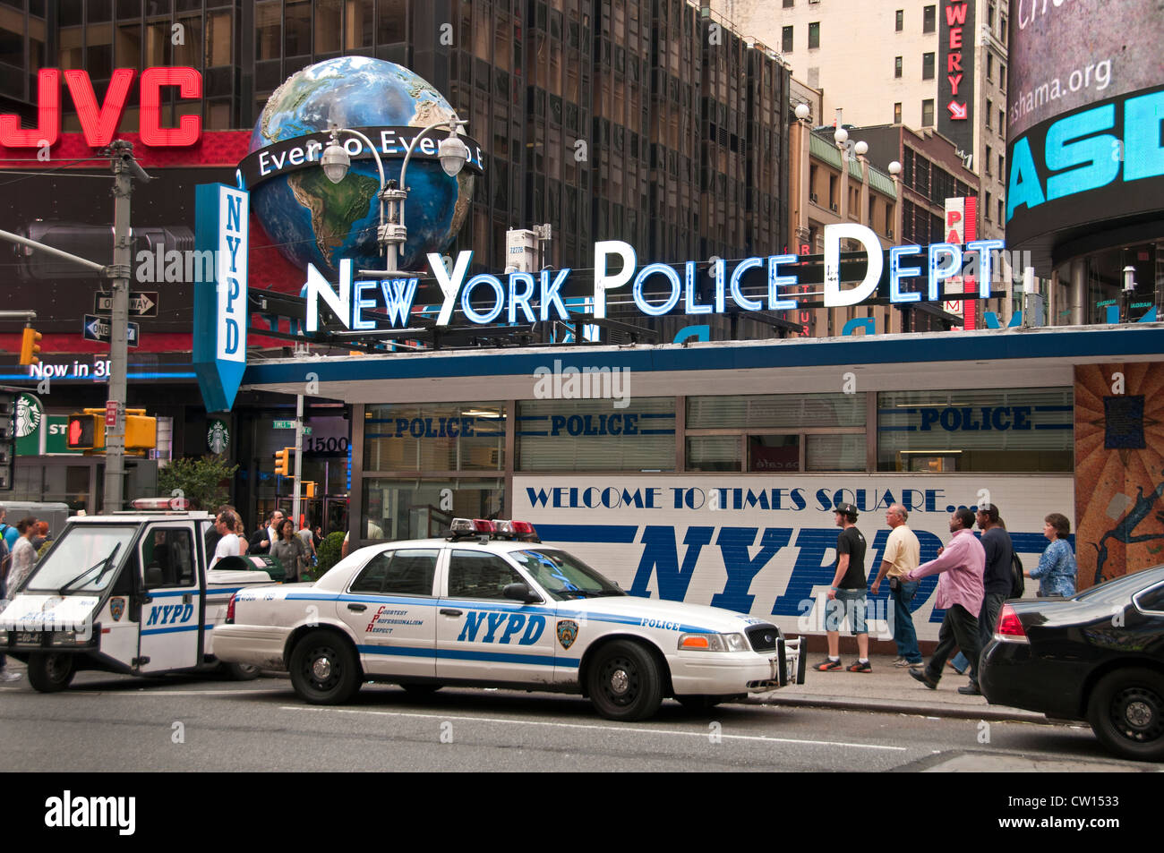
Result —
<path fill-rule="evenodd" d="M 972 235 L 970 235 L 972 236 Z M 860 243 L 867 258 L 866 272 L 854 286 L 842 287 L 840 241 Z M 973 240 L 963 244 L 934 243 L 929 247 L 896 246 L 888 250 L 887 290 L 893 304 L 937 301 L 943 297 L 946 279 L 961 276 L 964 263 L 977 261 L 978 298 L 991 297 L 993 277 L 991 253 L 1002 248 L 1001 240 Z M 638 266 L 634 248 L 620 240 L 598 241 L 594 247 L 594 314 L 606 317 L 606 297 L 611 291 L 630 290 L 636 307 L 647 317 L 662 317 L 677 308 L 688 315 L 722 314 L 729 311 L 729 300 L 743 311 L 797 311 L 795 298 L 800 280 L 787 275 L 799 263 L 797 255 L 747 257 L 729 270 L 726 261 L 716 261 L 710 269 L 712 292 L 705 297 L 697 284 L 697 264 L 651 263 Z M 840 307 L 857 305 L 885 286 L 885 260 L 881 241 L 866 226 L 856 222 L 824 227 L 824 305 Z M 475 325 L 570 321 L 563 303 L 563 290 L 570 270 L 542 270 L 540 273 L 510 272 L 508 276 L 478 273 L 469 277 L 471 251 L 457 255 L 452 269 L 446 269 L 441 256 L 430 254 L 432 278 L 440 287 L 442 301 L 436 326 L 448 326 L 457 307 Z M 917 265 L 910 265 L 910 260 Z M 923 272 L 924 266 L 924 272 Z M 617 268 L 617 271 L 615 271 Z M 745 292 L 744 276 L 764 282 L 762 289 Z M 386 273 L 385 273 L 386 275 Z M 925 292 L 906 291 L 902 282 L 923 278 Z M 406 327 L 417 294 L 417 278 L 385 277 L 383 279 L 355 278 L 350 260 L 340 261 L 339 287 L 334 287 L 314 266 L 307 266 L 305 296 L 307 299 L 305 328 L 319 330 L 320 301 L 349 329 L 376 328 L 372 311 L 388 314 L 392 326 Z M 647 287 L 650 283 L 651 287 Z M 760 292 L 755 292 L 759 290 Z M 961 293 L 960 285 L 957 291 Z M 970 296 L 970 294 L 967 294 Z M 648 298 L 650 297 L 650 298 Z M 703 299 L 707 298 L 707 301 Z"/>

